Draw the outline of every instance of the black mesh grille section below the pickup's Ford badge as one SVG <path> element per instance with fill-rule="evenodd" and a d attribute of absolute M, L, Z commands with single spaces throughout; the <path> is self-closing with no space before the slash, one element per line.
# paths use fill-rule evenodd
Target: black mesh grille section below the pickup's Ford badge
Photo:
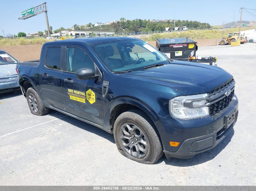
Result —
<path fill-rule="evenodd" d="M 221 100 L 217 101 L 216 103 L 213 103 L 210 105 L 210 115 L 213 116 L 216 113 L 220 112 L 221 110 L 223 110 L 224 108 L 226 108 L 228 106 L 228 104 L 231 102 L 233 96 L 234 96 L 234 91 L 233 90 L 229 96 L 226 96 L 224 98 L 222 98 Z"/>

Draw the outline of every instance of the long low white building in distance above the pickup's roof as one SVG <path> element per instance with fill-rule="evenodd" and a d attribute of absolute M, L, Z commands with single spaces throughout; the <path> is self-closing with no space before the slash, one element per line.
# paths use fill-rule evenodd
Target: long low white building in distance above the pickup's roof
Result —
<path fill-rule="evenodd" d="M 60 32 L 51 34 L 51 37 L 58 37 L 58 36 L 85 36 L 85 37 L 90 37 L 91 33 L 93 33 L 93 36 L 98 36 L 98 37 L 106 37 L 109 36 L 110 34 L 115 34 L 115 32 L 108 32 L 108 31 L 89 31 L 89 30 L 62 30 L 61 34 Z"/>

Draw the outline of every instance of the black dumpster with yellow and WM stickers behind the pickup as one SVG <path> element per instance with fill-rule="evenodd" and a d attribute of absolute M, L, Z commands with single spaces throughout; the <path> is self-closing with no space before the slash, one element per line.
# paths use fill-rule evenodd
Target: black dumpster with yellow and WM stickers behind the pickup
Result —
<path fill-rule="evenodd" d="M 190 38 L 166 38 L 157 39 L 156 48 L 171 59 L 187 60 L 190 53 L 198 50 L 197 42 Z"/>

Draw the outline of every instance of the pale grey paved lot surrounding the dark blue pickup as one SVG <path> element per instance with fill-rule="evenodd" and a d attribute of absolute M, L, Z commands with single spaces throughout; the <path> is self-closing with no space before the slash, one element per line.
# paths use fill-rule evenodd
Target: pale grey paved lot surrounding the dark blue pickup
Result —
<path fill-rule="evenodd" d="M 18 92 L 0 94 L 0 185 L 256 185 L 256 44 L 199 47 L 236 80 L 238 121 L 218 146 L 189 160 L 147 165 L 122 156 L 107 132 L 52 110 L 29 111 Z"/>

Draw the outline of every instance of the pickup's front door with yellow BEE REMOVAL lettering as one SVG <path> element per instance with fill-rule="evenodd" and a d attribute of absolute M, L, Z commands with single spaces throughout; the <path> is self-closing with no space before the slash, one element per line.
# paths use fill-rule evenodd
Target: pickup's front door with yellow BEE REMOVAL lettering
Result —
<path fill-rule="evenodd" d="M 99 72 L 94 61 L 85 51 L 85 48 L 77 47 L 77 45 L 76 47 L 67 46 L 66 65 L 62 83 L 68 112 L 105 126 L 101 78 L 79 80 L 75 75 L 79 68 L 91 68 L 94 72 Z"/>

